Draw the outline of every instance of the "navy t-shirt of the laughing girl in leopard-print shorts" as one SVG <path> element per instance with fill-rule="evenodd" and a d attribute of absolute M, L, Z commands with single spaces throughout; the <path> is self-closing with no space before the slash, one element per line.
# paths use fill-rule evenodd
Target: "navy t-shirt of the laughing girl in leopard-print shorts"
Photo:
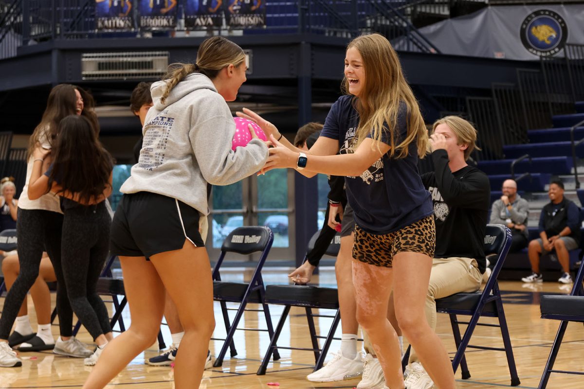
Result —
<path fill-rule="evenodd" d="M 342 96 L 326 116 L 321 136 L 337 139 L 341 154 L 353 152 L 353 138 L 359 125 L 359 114 L 353 96 Z M 407 133 L 407 109 L 401 104 L 395 145 Z M 381 141 L 390 145 L 390 133 Z M 387 234 L 426 216 L 432 215 L 430 192 L 424 188 L 418 171 L 418 146 L 408 146 L 408 156 L 391 158 L 386 153 L 359 177 L 345 177 L 347 199 L 353 208 L 357 225 L 366 232 Z"/>

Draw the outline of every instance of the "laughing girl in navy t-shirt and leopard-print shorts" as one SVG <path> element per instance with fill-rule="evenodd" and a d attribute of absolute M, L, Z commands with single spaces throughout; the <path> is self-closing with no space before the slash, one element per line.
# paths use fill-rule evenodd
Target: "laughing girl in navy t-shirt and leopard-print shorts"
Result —
<path fill-rule="evenodd" d="M 373 343 L 385 385 L 404 388 L 397 334 L 387 320 L 393 290 L 405 337 L 436 386 L 452 389 L 450 359 L 424 314 L 436 232 L 430 194 L 417 168 L 428 143 L 418 102 L 396 52 L 379 34 L 349 43 L 343 84 L 347 96 L 333 104 L 321 137 L 306 155 L 281 139 L 272 124 L 245 111 L 274 145 L 263 171 L 291 167 L 308 170 L 307 176 L 346 176 L 347 199 L 357 224 L 357 320 Z M 339 150 L 341 155 L 335 155 Z"/>

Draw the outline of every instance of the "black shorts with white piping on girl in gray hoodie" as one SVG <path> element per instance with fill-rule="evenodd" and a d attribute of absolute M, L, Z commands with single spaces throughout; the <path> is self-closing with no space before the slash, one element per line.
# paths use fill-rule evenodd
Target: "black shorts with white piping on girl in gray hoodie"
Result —
<path fill-rule="evenodd" d="M 199 211 L 151 192 L 124 194 L 113 216 L 110 250 L 123 257 L 151 257 L 179 250 L 185 239 L 204 247 Z"/>

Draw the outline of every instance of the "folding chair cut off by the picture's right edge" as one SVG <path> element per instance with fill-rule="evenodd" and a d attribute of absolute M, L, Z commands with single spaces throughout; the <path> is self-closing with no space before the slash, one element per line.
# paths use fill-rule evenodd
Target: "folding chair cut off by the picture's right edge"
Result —
<path fill-rule="evenodd" d="M 545 364 L 544 373 L 541 376 L 538 389 L 545 389 L 550 380 L 551 373 L 584 374 L 584 372 L 568 372 L 565 370 L 553 370 L 555 358 L 558 356 L 559 346 L 562 344 L 568 321 L 584 323 L 584 266 L 580 262 L 580 269 L 574 280 L 572 292 L 568 296 L 541 296 L 541 318 L 561 320 L 558 332 L 555 335 L 554 344 L 551 347 L 550 356 Z"/>

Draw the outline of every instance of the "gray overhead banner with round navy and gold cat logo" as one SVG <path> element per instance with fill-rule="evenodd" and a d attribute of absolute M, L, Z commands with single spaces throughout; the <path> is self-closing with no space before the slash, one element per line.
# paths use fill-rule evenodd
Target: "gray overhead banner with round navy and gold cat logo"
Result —
<path fill-rule="evenodd" d="M 489 6 L 419 29 L 443 54 L 533 60 L 584 44 L 584 6 Z M 394 42 L 392 42 L 394 43 Z M 406 48 L 404 40 L 394 47 Z"/>

